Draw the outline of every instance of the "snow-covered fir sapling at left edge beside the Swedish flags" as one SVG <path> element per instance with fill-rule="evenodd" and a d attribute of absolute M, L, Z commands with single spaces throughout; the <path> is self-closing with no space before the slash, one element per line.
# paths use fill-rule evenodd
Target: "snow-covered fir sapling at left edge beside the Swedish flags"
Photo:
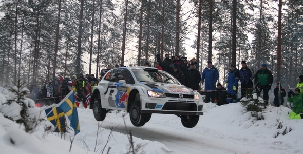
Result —
<path fill-rule="evenodd" d="M 5 103 L 0 106 L 0 113 L 5 118 L 8 118 L 25 127 L 26 132 L 33 131 L 37 120 L 40 117 L 40 110 L 35 107 L 35 102 L 27 95 L 30 91 L 22 87 L 18 81 L 17 85 L 12 86 L 8 90 L 11 91 L 6 97 Z"/>

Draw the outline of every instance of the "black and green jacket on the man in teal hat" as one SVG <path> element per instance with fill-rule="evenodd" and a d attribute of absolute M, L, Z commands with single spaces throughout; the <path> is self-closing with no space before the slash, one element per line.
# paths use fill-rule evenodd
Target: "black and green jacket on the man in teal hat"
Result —
<path fill-rule="evenodd" d="M 268 69 L 259 69 L 255 75 L 255 84 L 260 86 L 272 85 L 274 81 L 273 74 Z"/>

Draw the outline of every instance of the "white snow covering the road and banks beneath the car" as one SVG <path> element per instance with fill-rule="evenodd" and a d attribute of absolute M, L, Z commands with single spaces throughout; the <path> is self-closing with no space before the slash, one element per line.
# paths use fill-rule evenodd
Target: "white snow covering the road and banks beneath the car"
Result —
<path fill-rule="evenodd" d="M 9 94 L 4 90 L 1 93 L 3 104 Z M 45 130 L 52 126 L 47 120 L 26 133 L 22 126 L 0 114 L 0 148 L 1 153 L 37 154 L 121 154 L 133 149 L 134 153 L 150 154 L 303 153 L 303 120 L 290 120 L 290 111 L 285 106 L 269 105 L 262 113 L 264 119 L 256 120 L 241 103 L 204 103 L 204 115 L 198 124 L 185 128 L 179 117 L 169 114 L 153 114 L 142 127 L 133 126 L 124 111 L 112 111 L 98 122 L 91 109 L 79 107 L 81 131 L 76 136 L 71 128 L 63 134 Z M 34 107 L 30 113 L 46 119 L 43 107 Z"/>

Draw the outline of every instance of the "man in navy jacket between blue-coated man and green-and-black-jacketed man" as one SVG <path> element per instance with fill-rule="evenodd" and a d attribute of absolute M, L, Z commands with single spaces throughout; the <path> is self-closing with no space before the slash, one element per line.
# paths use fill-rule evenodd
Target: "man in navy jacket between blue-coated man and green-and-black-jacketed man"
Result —
<path fill-rule="evenodd" d="M 242 68 L 239 70 L 239 80 L 241 82 L 241 98 L 248 97 L 253 93 L 254 70 L 246 65 L 246 61 L 241 62 Z"/>

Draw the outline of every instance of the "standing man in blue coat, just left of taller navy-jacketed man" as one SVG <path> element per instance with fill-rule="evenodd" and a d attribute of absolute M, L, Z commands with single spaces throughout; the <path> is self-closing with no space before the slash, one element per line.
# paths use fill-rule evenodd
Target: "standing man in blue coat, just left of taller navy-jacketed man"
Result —
<path fill-rule="evenodd" d="M 228 87 L 228 103 L 238 102 L 238 84 L 239 83 L 239 70 L 236 68 L 235 64 L 231 64 L 231 69 L 228 74 L 228 80 L 226 81 L 226 86 Z"/>

